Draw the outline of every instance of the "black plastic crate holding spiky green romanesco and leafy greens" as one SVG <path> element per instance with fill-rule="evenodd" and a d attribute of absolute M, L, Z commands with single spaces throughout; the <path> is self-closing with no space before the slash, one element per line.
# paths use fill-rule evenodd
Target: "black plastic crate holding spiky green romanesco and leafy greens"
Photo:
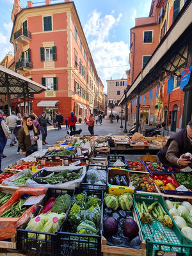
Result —
<path fill-rule="evenodd" d="M 58 231 L 58 246 L 60 246 L 60 255 L 100 256 L 104 191 L 102 189 L 76 188 L 74 195 L 82 193 L 83 191 L 86 191 L 88 196 L 94 194 L 101 199 L 99 234 L 83 235 L 83 234 L 76 234 L 76 233 L 70 232 L 71 229 L 70 229 L 70 223 L 68 223 L 68 214 L 67 214 L 67 219 L 65 223 L 63 223 L 61 230 Z M 86 240 L 81 239 L 81 237 L 85 237 Z M 92 239 L 94 240 L 92 241 Z"/>

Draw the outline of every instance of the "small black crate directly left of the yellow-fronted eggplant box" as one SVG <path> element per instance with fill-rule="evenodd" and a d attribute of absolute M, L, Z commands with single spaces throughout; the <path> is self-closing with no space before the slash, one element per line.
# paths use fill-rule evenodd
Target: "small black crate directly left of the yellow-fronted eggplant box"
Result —
<path fill-rule="evenodd" d="M 105 165 L 97 165 L 97 164 L 88 164 L 86 167 L 86 172 L 88 171 L 89 168 L 97 167 L 98 170 L 105 170 L 106 171 L 106 185 L 99 185 L 99 184 L 91 184 L 91 183 L 86 183 L 86 175 L 84 176 L 83 182 L 81 183 L 81 188 L 93 188 L 93 189 L 104 189 L 106 190 L 107 185 L 108 185 L 108 166 Z"/>

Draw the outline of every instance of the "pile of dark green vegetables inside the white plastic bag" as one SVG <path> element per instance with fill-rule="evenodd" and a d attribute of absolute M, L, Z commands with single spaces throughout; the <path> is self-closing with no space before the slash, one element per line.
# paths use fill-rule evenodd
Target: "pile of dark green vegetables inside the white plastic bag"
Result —
<path fill-rule="evenodd" d="M 39 182 L 42 184 L 59 184 L 79 179 L 82 172 L 82 168 L 78 172 L 63 170 L 62 172 L 52 172 L 51 175 L 45 177 L 35 177 L 35 179 L 39 180 Z"/>

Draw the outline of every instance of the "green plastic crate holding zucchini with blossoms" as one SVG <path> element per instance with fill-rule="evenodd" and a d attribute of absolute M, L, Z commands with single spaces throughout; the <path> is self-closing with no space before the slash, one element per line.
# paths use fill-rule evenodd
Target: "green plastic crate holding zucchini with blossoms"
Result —
<path fill-rule="evenodd" d="M 135 202 L 142 203 L 144 201 L 147 205 L 150 205 L 153 202 L 158 201 L 170 216 L 169 212 L 166 210 L 163 196 L 161 195 L 134 193 L 133 198 L 135 208 Z M 136 212 L 138 214 L 137 209 Z M 139 214 L 138 219 L 140 221 Z M 172 228 L 164 226 L 161 222 L 156 221 L 153 217 L 151 224 L 141 223 L 140 221 L 140 225 L 143 232 L 143 237 L 147 244 L 147 256 L 159 255 L 159 251 L 172 252 L 173 255 L 192 255 L 192 241 L 182 235 L 179 228 L 175 224 L 175 221 L 173 221 Z"/>

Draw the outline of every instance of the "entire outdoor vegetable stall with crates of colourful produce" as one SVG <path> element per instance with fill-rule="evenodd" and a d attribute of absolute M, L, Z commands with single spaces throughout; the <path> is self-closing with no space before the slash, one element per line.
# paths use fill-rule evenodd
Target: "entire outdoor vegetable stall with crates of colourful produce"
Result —
<path fill-rule="evenodd" d="M 0 175 L 0 252 L 192 255 L 191 168 L 111 154 L 150 152 L 164 141 L 66 136 L 8 164 Z"/>

